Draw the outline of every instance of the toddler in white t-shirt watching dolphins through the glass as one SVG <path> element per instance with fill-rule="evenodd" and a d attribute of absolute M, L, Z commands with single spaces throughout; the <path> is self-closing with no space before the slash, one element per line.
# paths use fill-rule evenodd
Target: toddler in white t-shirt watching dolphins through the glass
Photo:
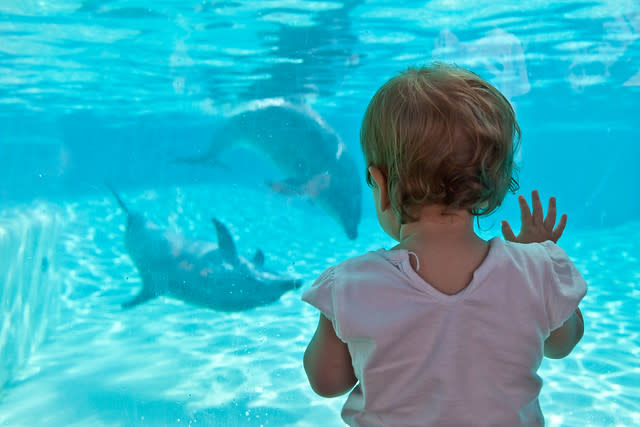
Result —
<path fill-rule="evenodd" d="M 360 140 L 377 217 L 398 241 L 330 267 L 303 294 L 320 321 L 304 355 L 313 390 L 351 391 L 353 426 L 541 426 L 542 357 L 581 339 L 587 285 L 556 245 L 536 191 L 516 236 L 481 239 L 518 183 L 520 129 L 476 74 L 408 69 L 373 96 Z M 555 228 L 554 228 L 555 227 Z M 355 387 L 354 387 L 355 386 Z"/>

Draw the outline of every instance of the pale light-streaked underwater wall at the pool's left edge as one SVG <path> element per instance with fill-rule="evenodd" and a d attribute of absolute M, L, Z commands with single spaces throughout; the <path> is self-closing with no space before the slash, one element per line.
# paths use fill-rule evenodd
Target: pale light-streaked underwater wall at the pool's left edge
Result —
<path fill-rule="evenodd" d="M 59 317 L 62 287 L 53 266 L 60 224 L 46 204 L 0 211 L 0 391 Z"/>

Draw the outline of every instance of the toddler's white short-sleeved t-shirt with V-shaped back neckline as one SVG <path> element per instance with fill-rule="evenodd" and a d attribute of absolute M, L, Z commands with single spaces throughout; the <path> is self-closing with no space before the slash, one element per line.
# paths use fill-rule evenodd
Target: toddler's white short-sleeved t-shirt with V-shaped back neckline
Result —
<path fill-rule="evenodd" d="M 541 426 L 544 340 L 587 292 L 551 241 L 496 237 L 469 285 L 446 295 L 379 250 L 328 268 L 302 299 L 329 318 L 358 384 L 353 426 Z"/>

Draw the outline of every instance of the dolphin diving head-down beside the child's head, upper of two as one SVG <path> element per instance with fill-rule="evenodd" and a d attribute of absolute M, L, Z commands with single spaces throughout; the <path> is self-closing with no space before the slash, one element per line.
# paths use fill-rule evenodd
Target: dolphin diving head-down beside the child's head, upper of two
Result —
<path fill-rule="evenodd" d="M 358 236 L 362 186 L 357 166 L 317 112 L 280 98 L 253 101 L 225 120 L 208 151 L 176 162 L 215 164 L 234 146 L 262 153 L 285 175 L 271 183 L 274 191 L 310 196 L 350 239 Z"/>

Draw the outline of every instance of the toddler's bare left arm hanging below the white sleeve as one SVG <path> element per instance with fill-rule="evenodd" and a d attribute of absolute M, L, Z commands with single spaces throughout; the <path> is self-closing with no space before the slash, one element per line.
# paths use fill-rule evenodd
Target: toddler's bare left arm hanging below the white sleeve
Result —
<path fill-rule="evenodd" d="M 322 397 L 345 394 L 358 382 L 349 348 L 324 314 L 320 314 L 316 333 L 304 352 L 304 370 L 311 388 Z"/>

